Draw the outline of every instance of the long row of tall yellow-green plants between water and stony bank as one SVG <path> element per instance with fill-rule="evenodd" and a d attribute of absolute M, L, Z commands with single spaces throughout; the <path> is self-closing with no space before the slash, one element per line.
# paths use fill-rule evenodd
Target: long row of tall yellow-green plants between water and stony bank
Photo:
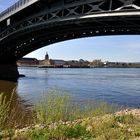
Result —
<path fill-rule="evenodd" d="M 73 121 L 79 118 L 93 117 L 113 112 L 115 106 L 106 102 L 87 103 L 85 106 L 76 104 L 67 95 L 43 96 L 35 105 L 35 123 L 52 123 Z"/>

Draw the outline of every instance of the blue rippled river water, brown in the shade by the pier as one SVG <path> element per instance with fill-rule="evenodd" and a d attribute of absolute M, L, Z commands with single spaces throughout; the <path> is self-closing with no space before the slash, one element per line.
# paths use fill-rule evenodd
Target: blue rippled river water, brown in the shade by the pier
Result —
<path fill-rule="evenodd" d="M 27 68 L 17 83 L 0 81 L 0 92 L 24 106 L 38 102 L 44 94 L 69 94 L 77 102 L 104 100 L 126 107 L 140 107 L 140 69 L 138 68 Z M 51 91 L 51 92 L 50 92 Z"/>

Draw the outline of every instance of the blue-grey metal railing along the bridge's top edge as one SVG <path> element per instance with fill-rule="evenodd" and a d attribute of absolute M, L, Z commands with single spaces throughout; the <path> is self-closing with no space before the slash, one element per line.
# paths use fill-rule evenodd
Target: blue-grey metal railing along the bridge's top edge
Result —
<path fill-rule="evenodd" d="M 26 6 L 26 5 L 28 5 L 28 3 L 33 3 L 35 1 L 37 1 L 37 0 L 19 0 L 14 5 L 12 5 L 8 9 L 6 9 L 2 13 L 0 13 L 0 21 L 2 21 L 3 19 L 5 19 L 8 16 L 10 16 L 11 14 L 13 14 L 18 9 L 20 9 L 21 7 L 23 7 L 24 5 Z"/>

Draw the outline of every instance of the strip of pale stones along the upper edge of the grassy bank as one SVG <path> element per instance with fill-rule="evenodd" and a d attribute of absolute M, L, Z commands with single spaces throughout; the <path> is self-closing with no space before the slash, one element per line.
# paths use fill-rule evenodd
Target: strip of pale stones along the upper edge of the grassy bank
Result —
<path fill-rule="evenodd" d="M 114 114 L 106 114 L 102 117 L 90 117 L 90 118 L 78 119 L 75 121 L 67 121 L 67 122 L 59 121 L 57 123 L 51 123 L 48 125 L 37 124 L 37 125 L 33 125 L 33 126 L 28 126 L 28 127 L 22 128 L 22 129 L 16 129 L 13 133 L 13 137 L 16 140 L 26 140 L 26 138 L 24 138 L 24 135 L 30 130 L 56 129 L 59 125 L 73 126 L 76 124 L 80 124 L 81 126 L 86 126 L 86 131 L 92 131 L 94 129 L 95 122 L 107 120 L 108 118 L 110 118 L 112 116 L 123 116 L 123 115 L 132 115 L 132 116 L 140 119 L 140 109 L 125 109 L 125 110 L 118 111 Z M 125 127 L 125 124 L 119 122 L 118 127 Z M 128 131 L 131 132 L 134 130 L 131 128 L 128 128 Z M 140 140 L 140 136 L 138 136 L 132 140 Z"/>

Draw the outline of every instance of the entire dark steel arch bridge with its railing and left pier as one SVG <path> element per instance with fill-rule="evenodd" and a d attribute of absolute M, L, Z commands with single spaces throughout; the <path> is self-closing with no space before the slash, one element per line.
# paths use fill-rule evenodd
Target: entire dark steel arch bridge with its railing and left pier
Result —
<path fill-rule="evenodd" d="M 0 13 L 0 78 L 18 76 L 18 59 L 52 43 L 135 34 L 140 0 L 20 0 Z"/>

